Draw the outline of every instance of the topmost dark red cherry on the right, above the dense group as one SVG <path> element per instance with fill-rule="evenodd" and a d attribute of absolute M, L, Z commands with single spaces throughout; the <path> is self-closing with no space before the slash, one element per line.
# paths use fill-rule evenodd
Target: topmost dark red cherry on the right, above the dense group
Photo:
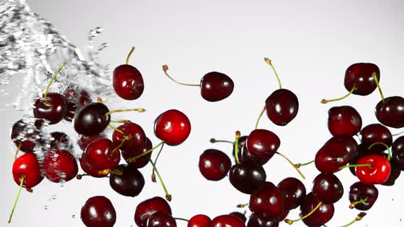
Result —
<path fill-rule="evenodd" d="M 380 81 L 380 70 L 372 63 L 357 63 L 349 66 L 345 72 L 344 85 L 346 90 L 351 91 L 355 84 L 353 94 L 366 96 L 371 94 L 376 88 L 373 72 L 376 73 L 377 81 Z"/>

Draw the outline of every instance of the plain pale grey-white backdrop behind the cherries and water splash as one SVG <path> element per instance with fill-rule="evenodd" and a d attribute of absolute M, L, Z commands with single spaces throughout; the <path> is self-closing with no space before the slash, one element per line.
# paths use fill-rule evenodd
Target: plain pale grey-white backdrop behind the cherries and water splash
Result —
<path fill-rule="evenodd" d="M 244 2 L 244 3 L 241 3 Z M 247 3 L 249 2 L 249 3 Z M 192 122 L 192 132 L 184 144 L 166 146 L 158 167 L 173 194 L 173 216 L 190 218 L 197 213 L 210 217 L 238 211 L 236 204 L 249 197 L 231 187 L 227 178 L 205 181 L 197 166 L 207 148 L 229 154 L 228 144 L 210 144 L 210 137 L 233 139 L 234 132 L 247 134 L 266 97 L 277 89 L 277 81 L 263 57 L 273 59 L 284 88 L 292 90 L 300 103 L 299 114 L 288 126 L 272 124 L 264 116 L 260 124 L 281 138 L 279 152 L 296 162 L 313 159 L 329 137 L 327 110 L 333 105 L 353 105 L 364 124 L 377 122 L 374 107 L 379 94 L 351 96 L 346 101 L 320 104 L 322 98 L 346 93 L 344 70 L 355 62 L 374 62 L 381 69 L 381 85 L 386 96 L 403 96 L 404 33 L 402 1 L 28 1 L 32 10 L 47 18 L 82 50 L 88 30 L 104 29 L 97 42 L 109 42 L 101 59 L 112 66 L 123 64 L 131 45 L 131 57 L 144 77 L 145 91 L 138 101 L 122 101 L 123 107 L 148 109 L 144 114 L 122 114 L 141 124 L 154 144 L 153 121 L 158 114 L 175 108 Z M 224 72 L 235 82 L 233 94 L 218 103 L 201 98 L 197 88 L 181 87 L 169 81 L 161 66 L 168 64 L 173 77 L 199 83 L 213 70 Z M 18 81 L 14 81 L 16 84 Z M 18 90 L 11 90 L 14 97 Z M 1 103 L 10 103 L 1 98 Z M 21 116 L 12 109 L 1 114 L 0 226 L 6 226 L 17 185 L 12 180 L 10 122 Z M 69 124 L 66 124 L 66 128 Z M 396 133 L 397 130 L 392 130 Z M 265 165 L 268 181 L 277 184 L 286 176 L 299 177 L 283 159 L 275 156 Z M 308 190 L 318 174 L 314 166 L 301 168 Z M 137 198 L 126 198 L 110 189 L 105 179 L 84 178 L 59 185 L 43 181 L 34 193 L 23 191 L 12 224 L 8 226 L 83 226 L 79 211 L 87 198 L 108 196 L 116 212 L 116 226 L 134 225 L 136 205 L 152 196 L 163 196 L 162 188 L 149 181 L 151 169 L 142 173 L 147 181 Z M 348 209 L 349 186 L 356 181 L 346 170 L 337 176 L 345 193 L 327 226 L 341 226 L 359 213 Z M 379 199 L 357 226 L 402 226 L 403 178 L 394 187 L 379 186 Z M 49 201 L 56 195 L 56 199 Z M 48 209 L 45 209 L 45 206 Z M 239 211 L 243 211 L 240 209 Z M 288 217 L 298 217 L 291 211 Z M 75 215 L 73 217 L 73 215 Z M 178 222 L 179 226 L 186 226 Z M 296 223 L 295 226 L 303 226 Z M 285 226 L 285 224 L 281 224 Z"/>

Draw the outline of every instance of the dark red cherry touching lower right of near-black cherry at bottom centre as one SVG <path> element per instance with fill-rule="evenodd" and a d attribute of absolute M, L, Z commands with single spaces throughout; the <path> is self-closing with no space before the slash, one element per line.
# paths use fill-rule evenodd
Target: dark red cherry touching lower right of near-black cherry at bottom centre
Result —
<path fill-rule="evenodd" d="M 249 209 L 255 215 L 273 219 L 281 215 L 283 208 L 283 196 L 273 183 L 266 182 L 261 189 L 251 194 Z"/>

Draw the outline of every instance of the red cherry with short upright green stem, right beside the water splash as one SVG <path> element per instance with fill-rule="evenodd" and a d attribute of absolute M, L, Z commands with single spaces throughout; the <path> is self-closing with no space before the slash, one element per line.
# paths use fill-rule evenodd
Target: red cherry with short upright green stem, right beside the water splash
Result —
<path fill-rule="evenodd" d="M 139 70 L 134 66 L 128 64 L 129 57 L 134 51 L 132 47 L 129 55 L 126 59 L 126 64 L 118 66 L 114 69 L 114 75 L 112 76 L 112 85 L 118 96 L 126 100 L 138 99 L 144 90 L 143 77 Z"/>

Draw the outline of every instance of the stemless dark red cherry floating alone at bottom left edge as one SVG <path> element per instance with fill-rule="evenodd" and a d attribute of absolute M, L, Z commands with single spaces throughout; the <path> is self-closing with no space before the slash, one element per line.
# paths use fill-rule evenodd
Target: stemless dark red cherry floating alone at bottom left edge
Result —
<path fill-rule="evenodd" d="M 81 207 L 81 221 L 88 227 L 112 227 L 116 222 L 116 211 L 112 202 L 104 196 L 89 198 Z"/>

